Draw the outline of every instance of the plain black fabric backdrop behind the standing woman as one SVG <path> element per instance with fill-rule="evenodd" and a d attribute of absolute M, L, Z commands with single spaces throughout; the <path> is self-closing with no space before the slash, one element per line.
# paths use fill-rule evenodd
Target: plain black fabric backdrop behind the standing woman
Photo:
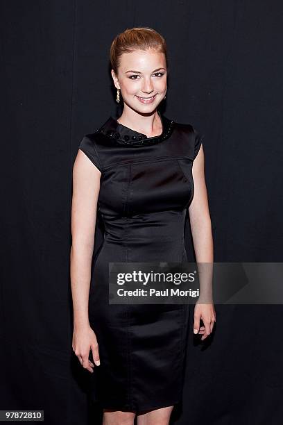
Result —
<path fill-rule="evenodd" d="M 119 116 L 108 49 L 166 38 L 164 114 L 205 134 L 215 261 L 282 261 L 279 0 L 1 2 L 1 409 L 100 424 L 72 356 L 71 170 L 86 133 Z M 95 251 L 101 244 L 96 229 Z M 189 260 L 194 260 L 189 223 Z M 267 283 L 268 284 L 268 283 Z M 281 424 L 282 306 L 216 306 L 211 344 L 189 338 L 176 424 Z M 169 371 L 170 373 L 170 371 Z M 178 413 L 178 414 L 177 414 Z"/>

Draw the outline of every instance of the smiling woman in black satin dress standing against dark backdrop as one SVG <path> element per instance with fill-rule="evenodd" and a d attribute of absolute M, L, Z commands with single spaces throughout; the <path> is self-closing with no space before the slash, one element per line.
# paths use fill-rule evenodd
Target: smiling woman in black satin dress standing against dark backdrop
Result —
<path fill-rule="evenodd" d="M 196 260 L 212 263 L 202 138 L 191 124 L 157 111 L 168 73 L 159 33 L 124 31 L 112 42 L 110 60 L 123 113 L 85 135 L 74 163 L 73 349 L 93 374 L 103 424 L 133 424 L 135 416 L 139 425 L 168 424 L 182 398 L 189 306 L 110 305 L 108 264 L 186 262 L 187 208 Z M 92 263 L 97 208 L 105 235 Z M 196 304 L 194 332 L 202 340 L 215 317 L 213 303 Z"/>

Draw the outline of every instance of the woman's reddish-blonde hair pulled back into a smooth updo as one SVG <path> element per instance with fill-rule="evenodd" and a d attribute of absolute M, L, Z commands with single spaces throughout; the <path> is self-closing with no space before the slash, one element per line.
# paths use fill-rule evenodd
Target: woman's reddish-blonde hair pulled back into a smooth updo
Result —
<path fill-rule="evenodd" d="M 166 68 L 168 68 L 166 41 L 153 28 L 135 27 L 127 28 L 123 33 L 118 34 L 112 41 L 110 47 L 110 63 L 117 75 L 120 65 L 120 57 L 123 53 L 130 53 L 135 50 L 153 49 L 158 53 L 164 53 Z"/>

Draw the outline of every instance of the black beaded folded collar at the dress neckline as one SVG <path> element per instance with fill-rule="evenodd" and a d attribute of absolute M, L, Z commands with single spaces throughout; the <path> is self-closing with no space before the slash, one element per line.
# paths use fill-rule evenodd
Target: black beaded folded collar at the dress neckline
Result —
<path fill-rule="evenodd" d="M 173 130 L 173 120 L 170 120 L 160 112 L 158 112 L 162 123 L 162 133 L 152 138 L 148 138 L 145 134 L 132 130 L 123 124 L 120 124 L 117 119 L 112 116 L 98 128 L 97 133 L 101 133 L 110 138 L 115 144 L 123 144 L 127 147 L 146 146 L 148 144 L 156 144 L 166 140 L 170 137 Z"/>

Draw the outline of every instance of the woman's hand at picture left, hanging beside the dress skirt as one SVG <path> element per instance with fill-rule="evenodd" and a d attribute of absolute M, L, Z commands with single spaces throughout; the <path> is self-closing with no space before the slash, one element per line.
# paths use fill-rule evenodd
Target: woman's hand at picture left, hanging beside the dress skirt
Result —
<path fill-rule="evenodd" d="M 74 328 L 72 348 L 80 364 L 90 373 L 94 372 L 94 364 L 89 360 L 89 350 L 92 350 L 95 365 L 100 365 L 96 335 L 90 326 Z"/>

